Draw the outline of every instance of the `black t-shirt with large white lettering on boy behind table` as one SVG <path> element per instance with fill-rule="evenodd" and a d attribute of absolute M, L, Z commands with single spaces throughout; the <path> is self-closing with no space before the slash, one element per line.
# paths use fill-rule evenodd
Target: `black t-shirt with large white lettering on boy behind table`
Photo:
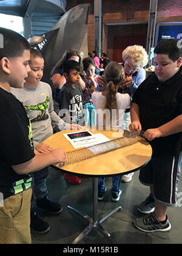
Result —
<path fill-rule="evenodd" d="M 59 116 L 62 119 L 64 119 L 65 110 L 69 110 L 72 123 L 83 125 L 83 91 L 78 85 L 72 88 L 65 84 L 61 88 L 59 92 L 59 109 L 61 110 Z"/>

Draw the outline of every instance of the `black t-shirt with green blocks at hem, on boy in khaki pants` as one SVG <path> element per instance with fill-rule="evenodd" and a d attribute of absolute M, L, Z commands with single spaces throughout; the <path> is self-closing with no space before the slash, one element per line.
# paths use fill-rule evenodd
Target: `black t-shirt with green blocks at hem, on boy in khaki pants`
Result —
<path fill-rule="evenodd" d="M 28 162 L 33 151 L 32 128 L 21 102 L 0 88 L 0 193 L 4 199 L 31 187 L 31 174 L 18 175 L 13 165 Z"/>

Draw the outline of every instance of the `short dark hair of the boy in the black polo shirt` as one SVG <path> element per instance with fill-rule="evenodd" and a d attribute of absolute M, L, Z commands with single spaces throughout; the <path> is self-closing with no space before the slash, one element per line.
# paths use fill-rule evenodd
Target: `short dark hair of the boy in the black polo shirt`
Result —
<path fill-rule="evenodd" d="M 166 54 L 174 62 L 182 57 L 182 49 L 178 46 L 178 40 L 173 38 L 160 41 L 155 47 L 154 53 Z"/>

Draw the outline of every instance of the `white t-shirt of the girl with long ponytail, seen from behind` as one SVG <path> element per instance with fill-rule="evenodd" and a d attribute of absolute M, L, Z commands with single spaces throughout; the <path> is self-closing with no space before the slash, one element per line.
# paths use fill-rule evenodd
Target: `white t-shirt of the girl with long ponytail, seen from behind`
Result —
<path fill-rule="evenodd" d="M 131 104 L 131 98 L 128 93 L 116 94 L 117 109 L 112 110 L 112 115 L 110 115 L 109 109 L 105 109 L 106 96 L 103 96 L 101 92 L 94 91 L 92 93 L 92 102 L 96 108 L 98 126 L 104 125 L 105 118 L 103 118 L 103 115 L 105 114 L 106 126 L 123 129 L 124 112 Z M 112 118 L 110 118 L 110 116 L 112 116 Z"/>

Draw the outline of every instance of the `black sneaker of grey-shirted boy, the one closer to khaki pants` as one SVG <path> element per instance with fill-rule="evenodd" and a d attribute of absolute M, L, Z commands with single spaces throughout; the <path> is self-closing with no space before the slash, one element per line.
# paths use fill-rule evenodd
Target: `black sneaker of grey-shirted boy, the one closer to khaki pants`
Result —
<path fill-rule="evenodd" d="M 43 221 L 37 212 L 32 213 L 30 216 L 30 227 L 39 234 L 47 233 L 50 230 L 49 224 Z"/>

